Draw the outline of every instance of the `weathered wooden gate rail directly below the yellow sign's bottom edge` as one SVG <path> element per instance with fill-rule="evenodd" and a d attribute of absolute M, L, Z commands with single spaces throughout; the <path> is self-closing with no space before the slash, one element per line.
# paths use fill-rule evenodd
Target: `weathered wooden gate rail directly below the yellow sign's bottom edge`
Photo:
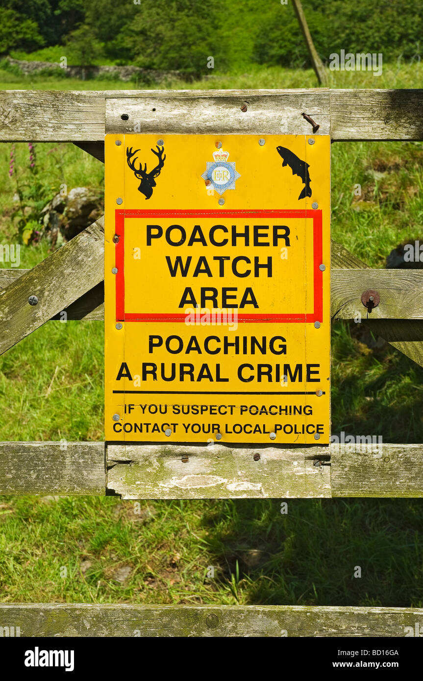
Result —
<path fill-rule="evenodd" d="M 260 458 L 257 459 L 257 454 Z M 423 445 L 0 443 L 0 494 L 125 499 L 423 496 Z"/>

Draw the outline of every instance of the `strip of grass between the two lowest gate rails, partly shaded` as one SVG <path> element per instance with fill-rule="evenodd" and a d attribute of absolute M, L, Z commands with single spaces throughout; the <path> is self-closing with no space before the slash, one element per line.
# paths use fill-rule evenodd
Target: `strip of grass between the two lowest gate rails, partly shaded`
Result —
<path fill-rule="evenodd" d="M 280 511 L 278 500 L 4 499 L 1 600 L 422 607 L 422 503 Z"/>

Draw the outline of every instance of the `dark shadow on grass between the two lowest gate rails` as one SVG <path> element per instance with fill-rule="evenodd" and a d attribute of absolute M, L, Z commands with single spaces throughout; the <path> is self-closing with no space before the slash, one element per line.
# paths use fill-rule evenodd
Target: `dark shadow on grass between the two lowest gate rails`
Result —
<path fill-rule="evenodd" d="M 422 607 L 423 500 L 281 503 L 216 501 L 204 516 L 217 580 L 240 603 Z"/>

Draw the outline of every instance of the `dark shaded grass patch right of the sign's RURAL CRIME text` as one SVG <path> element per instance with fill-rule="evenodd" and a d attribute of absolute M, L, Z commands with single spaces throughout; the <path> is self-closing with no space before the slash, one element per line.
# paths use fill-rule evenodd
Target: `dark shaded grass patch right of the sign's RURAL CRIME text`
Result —
<path fill-rule="evenodd" d="M 332 328 L 332 358 L 332 432 L 423 442 L 421 366 L 354 322 Z"/>

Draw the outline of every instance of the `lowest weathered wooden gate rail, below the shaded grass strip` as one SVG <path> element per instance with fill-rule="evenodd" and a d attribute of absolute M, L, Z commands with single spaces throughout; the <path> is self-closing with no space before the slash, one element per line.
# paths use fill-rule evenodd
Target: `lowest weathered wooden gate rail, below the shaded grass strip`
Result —
<path fill-rule="evenodd" d="M 416 624 L 423 608 L 0 604 L 0 627 L 21 637 L 405 637 Z"/>

